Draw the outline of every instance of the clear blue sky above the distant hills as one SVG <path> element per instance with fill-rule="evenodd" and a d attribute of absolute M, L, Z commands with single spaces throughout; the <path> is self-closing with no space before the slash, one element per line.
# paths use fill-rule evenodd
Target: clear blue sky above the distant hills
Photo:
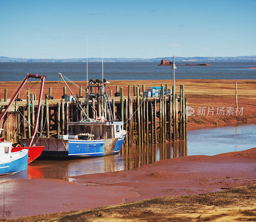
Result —
<path fill-rule="evenodd" d="M 0 56 L 256 54 L 256 1 L 0 0 Z"/>

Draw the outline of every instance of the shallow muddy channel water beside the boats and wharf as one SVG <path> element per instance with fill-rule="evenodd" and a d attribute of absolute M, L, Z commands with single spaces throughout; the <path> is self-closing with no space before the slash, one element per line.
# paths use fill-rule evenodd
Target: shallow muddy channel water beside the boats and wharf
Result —
<path fill-rule="evenodd" d="M 163 159 L 187 155 L 216 155 L 256 147 L 256 122 L 188 131 L 187 142 L 166 142 L 125 147 L 120 154 L 105 157 L 70 159 L 43 158 L 28 165 L 28 170 L 4 179 L 52 178 L 69 180 L 71 176 L 130 170 Z"/>

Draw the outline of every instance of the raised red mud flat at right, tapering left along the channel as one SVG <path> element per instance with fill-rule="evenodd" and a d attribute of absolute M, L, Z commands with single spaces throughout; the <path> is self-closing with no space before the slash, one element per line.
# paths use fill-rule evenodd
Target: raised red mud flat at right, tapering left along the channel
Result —
<path fill-rule="evenodd" d="M 256 148 L 215 156 L 187 156 L 158 161 L 130 171 L 73 177 L 77 182 L 134 187 L 140 194 L 126 201 L 159 196 L 195 195 L 256 183 Z"/>

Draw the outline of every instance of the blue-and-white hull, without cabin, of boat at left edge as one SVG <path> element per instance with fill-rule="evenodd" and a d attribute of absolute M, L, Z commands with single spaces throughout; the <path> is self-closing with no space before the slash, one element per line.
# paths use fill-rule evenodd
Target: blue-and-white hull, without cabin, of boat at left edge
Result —
<path fill-rule="evenodd" d="M 0 175 L 16 173 L 27 170 L 28 167 L 28 150 L 21 150 L 11 153 L 11 159 L 8 162 L 0 163 Z"/>

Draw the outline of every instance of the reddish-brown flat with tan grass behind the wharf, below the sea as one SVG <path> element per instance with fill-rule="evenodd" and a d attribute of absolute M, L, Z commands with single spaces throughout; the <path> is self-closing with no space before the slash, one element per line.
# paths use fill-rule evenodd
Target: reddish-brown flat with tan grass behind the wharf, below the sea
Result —
<path fill-rule="evenodd" d="M 46 78 L 47 80 L 47 78 Z M 131 95 L 133 96 L 133 85 L 140 85 L 142 90 L 142 84 L 145 88 L 150 86 L 161 86 L 161 84 L 168 84 L 168 87 L 172 87 L 172 80 L 130 80 L 130 81 L 110 81 L 109 90 L 113 90 L 113 94 L 116 92 L 116 85 L 124 88 L 124 96 L 128 94 L 128 85 L 131 85 Z M 78 86 L 86 88 L 86 81 L 75 81 Z M 238 93 L 238 107 L 243 108 L 243 115 L 217 115 L 217 107 L 235 107 L 235 80 L 176 80 L 176 93 L 179 94 L 179 85 L 185 86 L 185 95 L 188 98 L 188 105 L 196 110 L 198 107 L 205 107 L 205 115 L 195 115 L 188 117 L 188 130 L 197 129 L 201 127 L 224 125 L 232 122 L 246 122 L 256 120 L 256 80 L 237 80 L 237 93 Z M 7 97 L 9 98 L 13 91 L 18 87 L 20 82 L 0 82 L 0 98 L 4 98 L 4 88 L 8 88 Z M 33 86 L 33 87 L 32 87 Z M 25 95 L 26 88 L 32 87 L 30 93 L 34 93 L 37 87 L 35 82 L 28 82 L 26 87 L 21 91 L 20 97 Z M 56 99 L 60 99 L 63 95 L 63 84 L 58 81 L 45 81 L 43 93 L 48 93 L 49 87 L 52 87 L 52 96 Z M 76 94 L 79 93 L 79 89 L 73 85 L 70 85 L 71 90 Z M 67 93 L 68 92 L 67 89 Z M 85 97 L 84 93 L 83 96 Z M 26 96 L 23 97 L 25 99 Z M 214 115 L 211 113 L 207 115 L 207 109 L 212 107 L 215 109 Z M 226 114 L 226 113 L 225 113 Z"/>

